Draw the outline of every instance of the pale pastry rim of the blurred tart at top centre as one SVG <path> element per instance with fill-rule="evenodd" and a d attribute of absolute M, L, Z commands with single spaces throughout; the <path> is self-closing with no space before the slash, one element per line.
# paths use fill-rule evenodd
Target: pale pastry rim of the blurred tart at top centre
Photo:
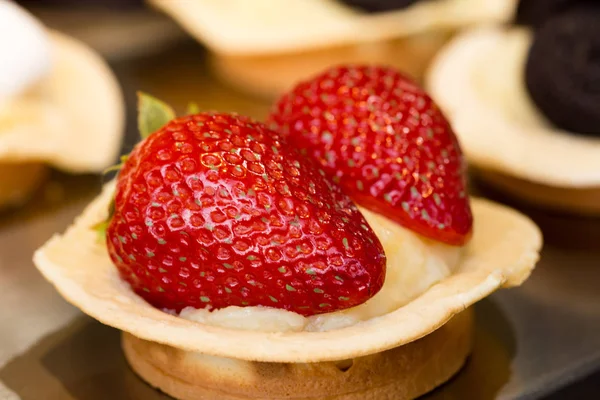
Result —
<path fill-rule="evenodd" d="M 365 14 L 332 0 L 149 0 L 225 54 L 281 53 L 512 19 L 517 0 L 431 0 Z"/>

